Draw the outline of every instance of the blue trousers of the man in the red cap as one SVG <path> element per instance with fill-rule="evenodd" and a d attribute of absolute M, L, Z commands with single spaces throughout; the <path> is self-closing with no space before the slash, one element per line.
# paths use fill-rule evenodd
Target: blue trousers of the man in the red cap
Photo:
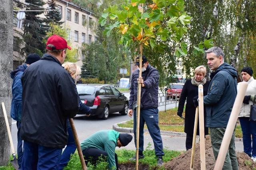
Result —
<path fill-rule="evenodd" d="M 62 149 L 24 141 L 22 170 L 58 170 Z"/>

